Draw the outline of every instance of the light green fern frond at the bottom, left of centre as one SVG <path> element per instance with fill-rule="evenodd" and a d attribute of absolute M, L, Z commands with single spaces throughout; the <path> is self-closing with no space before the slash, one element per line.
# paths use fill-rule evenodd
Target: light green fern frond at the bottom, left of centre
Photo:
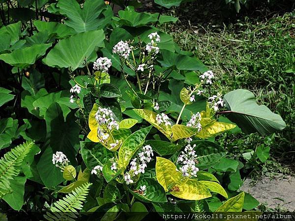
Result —
<path fill-rule="evenodd" d="M 44 218 L 48 221 L 75 221 L 78 211 L 83 208 L 83 202 L 89 192 L 91 183 L 85 183 L 77 187 L 72 193 L 67 194 L 62 199 L 54 203 L 51 212 L 47 212 Z"/>

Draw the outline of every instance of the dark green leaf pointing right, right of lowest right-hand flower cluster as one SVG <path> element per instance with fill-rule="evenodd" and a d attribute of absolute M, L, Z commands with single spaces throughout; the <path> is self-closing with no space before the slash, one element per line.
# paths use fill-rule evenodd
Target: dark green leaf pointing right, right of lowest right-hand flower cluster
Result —
<path fill-rule="evenodd" d="M 195 151 L 198 156 L 199 169 L 207 169 L 219 163 L 226 155 L 227 151 L 218 144 L 207 140 L 192 141 L 191 145 L 196 144 Z"/>

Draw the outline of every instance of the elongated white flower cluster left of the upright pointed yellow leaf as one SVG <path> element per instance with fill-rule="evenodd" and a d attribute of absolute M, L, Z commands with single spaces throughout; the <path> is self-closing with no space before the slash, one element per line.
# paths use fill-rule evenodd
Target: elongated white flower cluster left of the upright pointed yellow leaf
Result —
<path fill-rule="evenodd" d="M 130 170 L 124 175 L 127 185 L 133 183 L 132 177 L 140 173 L 145 173 L 145 168 L 147 167 L 147 163 L 151 161 L 151 157 L 153 157 L 152 148 L 150 145 L 146 145 L 143 147 L 143 151 L 139 152 L 137 157 L 132 159 L 130 162 Z"/>

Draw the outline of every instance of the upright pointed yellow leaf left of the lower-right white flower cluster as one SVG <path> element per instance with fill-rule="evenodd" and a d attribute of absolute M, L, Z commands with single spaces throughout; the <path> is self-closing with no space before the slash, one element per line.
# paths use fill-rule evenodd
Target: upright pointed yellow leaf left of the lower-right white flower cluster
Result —
<path fill-rule="evenodd" d="M 156 177 L 159 184 L 168 192 L 182 178 L 182 175 L 177 171 L 177 167 L 170 160 L 162 157 L 157 157 L 156 161 Z"/>

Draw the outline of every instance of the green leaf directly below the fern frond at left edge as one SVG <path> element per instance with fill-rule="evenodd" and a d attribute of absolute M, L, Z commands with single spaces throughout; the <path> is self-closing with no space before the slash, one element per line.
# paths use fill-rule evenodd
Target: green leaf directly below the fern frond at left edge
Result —
<path fill-rule="evenodd" d="M 4 195 L 2 199 L 14 210 L 20 210 L 23 206 L 26 181 L 25 176 L 17 176 L 9 181 L 12 193 Z"/>

